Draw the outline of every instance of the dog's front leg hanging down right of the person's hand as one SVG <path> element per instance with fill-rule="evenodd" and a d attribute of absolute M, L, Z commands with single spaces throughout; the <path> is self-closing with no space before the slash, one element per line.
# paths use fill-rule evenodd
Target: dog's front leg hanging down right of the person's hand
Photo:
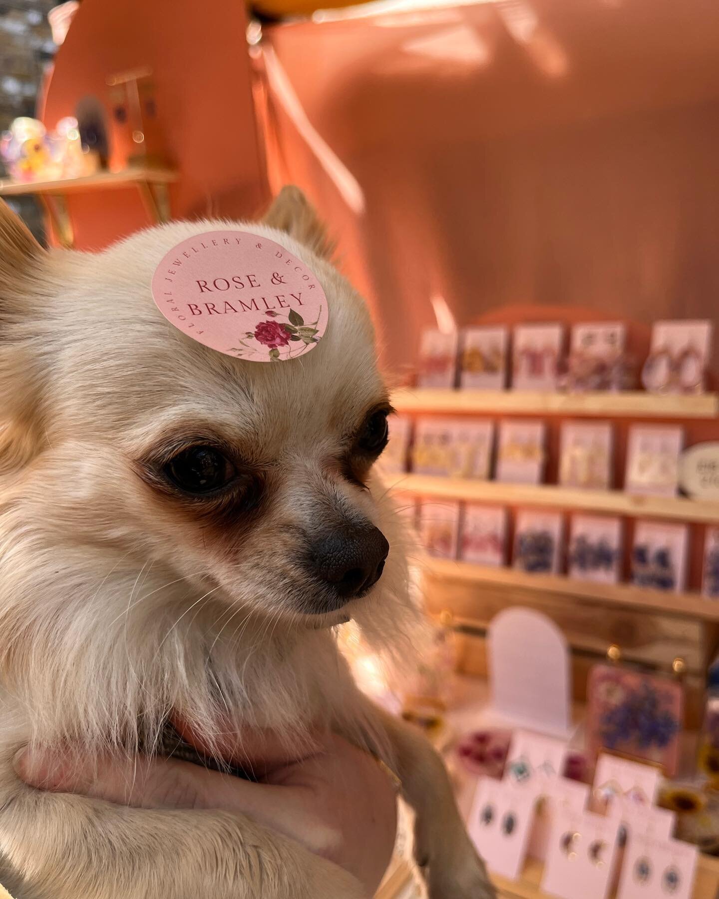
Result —
<path fill-rule="evenodd" d="M 444 762 L 411 725 L 374 706 L 389 736 L 402 793 L 416 812 L 414 855 L 431 899 L 492 899 L 494 888 L 457 809 Z"/>

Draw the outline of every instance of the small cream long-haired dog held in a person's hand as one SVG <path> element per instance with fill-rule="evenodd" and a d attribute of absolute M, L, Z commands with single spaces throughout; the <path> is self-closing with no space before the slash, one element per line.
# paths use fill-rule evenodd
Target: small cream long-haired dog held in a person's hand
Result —
<path fill-rule="evenodd" d="M 164 254 L 232 225 L 47 253 L 0 205 L 0 883 L 18 899 L 364 899 L 244 816 L 114 806 L 13 773 L 29 743 L 88 766 L 155 752 L 178 716 L 210 749 L 228 726 L 386 747 L 432 899 L 493 895 L 441 761 L 368 704 L 338 651 L 342 621 L 391 641 L 412 610 L 372 474 L 389 411 L 372 325 L 302 194 L 244 225 L 328 298 L 324 338 L 280 364 L 192 341 L 151 298 Z"/>

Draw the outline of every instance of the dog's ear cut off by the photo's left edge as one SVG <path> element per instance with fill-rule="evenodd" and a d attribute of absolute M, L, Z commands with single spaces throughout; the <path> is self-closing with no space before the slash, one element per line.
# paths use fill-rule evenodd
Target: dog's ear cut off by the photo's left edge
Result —
<path fill-rule="evenodd" d="M 0 200 L 0 323 L 20 312 L 17 303 L 26 293 L 26 282 L 45 255 L 27 226 Z M 0 341 L 2 332 L 0 324 Z"/>

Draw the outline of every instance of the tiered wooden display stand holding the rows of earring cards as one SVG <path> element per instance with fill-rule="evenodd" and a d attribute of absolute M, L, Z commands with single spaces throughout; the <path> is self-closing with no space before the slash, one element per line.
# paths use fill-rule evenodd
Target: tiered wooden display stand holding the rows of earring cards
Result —
<path fill-rule="evenodd" d="M 604 419 L 689 422 L 697 429 L 690 442 L 719 435 L 717 396 L 658 396 L 626 393 L 525 393 L 522 391 L 404 388 L 392 397 L 400 414 L 510 417 L 579 415 Z M 397 494 L 459 502 L 544 507 L 568 512 L 599 512 L 686 521 L 695 528 L 719 522 L 719 503 L 680 497 L 650 497 L 620 490 L 581 490 L 552 484 L 515 485 L 450 477 L 406 474 L 394 477 Z M 696 557 L 695 566 L 698 565 Z M 719 604 L 698 592 L 643 590 L 627 583 L 597 584 L 564 575 L 534 575 L 510 567 L 490 568 L 431 558 L 422 562 L 424 593 L 431 612 L 449 610 L 457 622 L 460 670 L 485 677 L 484 636 L 500 610 L 522 605 L 544 612 L 564 630 L 573 648 L 575 699 L 585 698 L 590 665 L 609 645 L 621 647 L 627 661 L 669 672 L 685 664 L 687 724 L 700 723 L 706 667 L 719 644 Z"/>

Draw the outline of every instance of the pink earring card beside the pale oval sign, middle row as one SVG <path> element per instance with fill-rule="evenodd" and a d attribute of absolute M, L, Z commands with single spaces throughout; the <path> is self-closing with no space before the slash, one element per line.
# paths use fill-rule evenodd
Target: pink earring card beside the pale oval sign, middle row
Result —
<path fill-rule="evenodd" d="M 626 451 L 625 490 L 632 494 L 675 496 L 683 444 L 682 428 L 631 427 Z"/>

